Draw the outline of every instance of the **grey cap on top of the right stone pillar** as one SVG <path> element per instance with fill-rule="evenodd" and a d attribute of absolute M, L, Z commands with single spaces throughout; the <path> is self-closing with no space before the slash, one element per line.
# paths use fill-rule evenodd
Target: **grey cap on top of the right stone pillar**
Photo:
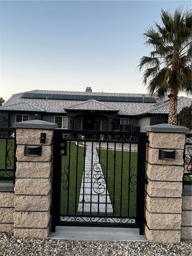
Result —
<path fill-rule="evenodd" d="M 160 124 L 160 125 L 150 125 L 144 127 L 146 131 L 151 132 L 175 132 L 175 133 L 187 133 L 189 132 L 189 128 L 184 126 L 177 125 L 168 125 L 168 124 Z"/>

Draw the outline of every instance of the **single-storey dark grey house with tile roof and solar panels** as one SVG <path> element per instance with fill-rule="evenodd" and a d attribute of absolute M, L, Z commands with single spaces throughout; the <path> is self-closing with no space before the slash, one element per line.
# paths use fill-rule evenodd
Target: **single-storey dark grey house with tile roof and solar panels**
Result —
<path fill-rule="evenodd" d="M 191 99 L 178 97 L 178 113 Z M 149 94 L 34 90 L 13 94 L 0 106 L 0 126 L 40 119 L 58 128 L 110 131 L 144 131 L 144 127 L 166 123 L 169 98 L 163 102 Z"/>

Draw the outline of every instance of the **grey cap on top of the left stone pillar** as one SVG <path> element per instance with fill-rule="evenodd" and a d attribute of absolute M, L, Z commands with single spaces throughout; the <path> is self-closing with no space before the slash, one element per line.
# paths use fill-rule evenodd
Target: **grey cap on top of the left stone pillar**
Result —
<path fill-rule="evenodd" d="M 16 128 L 54 129 L 57 128 L 57 126 L 57 124 L 38 119 L 13 123 L 13 127 Z"/>

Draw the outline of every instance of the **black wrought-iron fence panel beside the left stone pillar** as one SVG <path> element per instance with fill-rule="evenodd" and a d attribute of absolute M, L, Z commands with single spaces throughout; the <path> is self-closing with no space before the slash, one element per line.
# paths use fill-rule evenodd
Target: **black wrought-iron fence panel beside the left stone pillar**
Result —
<path fill-rule="evenodd" d="M 15 184 L 16 128 L 0 127 L 0 183 Z"/>

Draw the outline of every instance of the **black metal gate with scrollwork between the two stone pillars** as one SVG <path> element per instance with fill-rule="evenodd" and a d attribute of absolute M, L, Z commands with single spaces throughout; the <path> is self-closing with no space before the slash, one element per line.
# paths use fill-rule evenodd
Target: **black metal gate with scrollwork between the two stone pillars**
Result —
<path fill-rule="evenodd" d="M 52 232 L 73 225 L 143 234 L 146 133 L 55 129 L 53 145 Z"/>

